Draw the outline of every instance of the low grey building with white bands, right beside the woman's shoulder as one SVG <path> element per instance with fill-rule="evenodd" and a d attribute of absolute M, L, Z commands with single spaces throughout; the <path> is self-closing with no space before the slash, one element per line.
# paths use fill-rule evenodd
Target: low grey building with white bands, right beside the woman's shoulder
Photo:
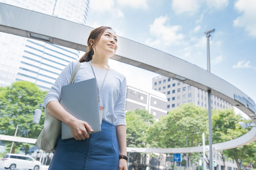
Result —
<path fill-rule="evenodd" d="M 126 111 L 134 111 L 137 108 L 146 109 L 155 119 L 167 115 L 166 95 L 151 89 L 127 86 Z"/>

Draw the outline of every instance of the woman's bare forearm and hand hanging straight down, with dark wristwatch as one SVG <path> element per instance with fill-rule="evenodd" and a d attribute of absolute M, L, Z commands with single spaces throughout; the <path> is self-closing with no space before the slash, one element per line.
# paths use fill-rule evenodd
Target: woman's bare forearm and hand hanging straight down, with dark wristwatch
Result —
<path fill-rule="evenodd" d="M 116 137 L 119 145 L 119 154 L 127 155 L 126 150 L 126 126 L 116 126 Z M 127 161 L 119 159 L 119 170 L 127 170 Z"/>

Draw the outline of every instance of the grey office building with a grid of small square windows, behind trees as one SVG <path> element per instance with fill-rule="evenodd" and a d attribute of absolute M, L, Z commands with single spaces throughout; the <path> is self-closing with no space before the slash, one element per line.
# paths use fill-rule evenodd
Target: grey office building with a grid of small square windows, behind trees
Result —
<path fill-rule="evenodd" d="M 208 108 L 208 93 L 195 88 L 184 82 L 171 79 L 165 76 L 158 76 L 152 79 L 152 88 L 166 95 L 166 110 L 177 108 L 183 103 L 193 102 L 197 106 Z M 230 108 L 232 105 L 223 99 L 212 95 L 212 109 Z"/>

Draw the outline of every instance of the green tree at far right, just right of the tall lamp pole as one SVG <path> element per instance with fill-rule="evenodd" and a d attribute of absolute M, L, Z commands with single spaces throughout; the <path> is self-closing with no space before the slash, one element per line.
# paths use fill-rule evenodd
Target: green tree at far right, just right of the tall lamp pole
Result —
<path fill-rule="evenodd" d="M 233 109 L 212 111 L 212 139 L 213 143 L 226 142 L 238 138 L 247 133 L 250 128 L 243 129 L 239 122 L 251 122 L 240 115 L 236 115 Z M 249 162 L 255 151 L 255 144 L 250 143 L 244 146 L 221 151 L 221 159 L 225 166 L 225 157 L 236 161 L 237 167 L 241 170 L 242 162 Z M 251 162 L 250 162 L 251 163 Z"/>

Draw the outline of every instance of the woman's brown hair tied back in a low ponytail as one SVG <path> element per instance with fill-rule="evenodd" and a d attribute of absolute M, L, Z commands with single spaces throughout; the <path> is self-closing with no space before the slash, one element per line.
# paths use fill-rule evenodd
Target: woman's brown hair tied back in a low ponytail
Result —
<path fill-rule="evenodd" d="M 111 29 L 113 31 L 111 27 L 101 26 L 99 28 L 95 28 L 93 31 L 90 32 L 90 35 L 87 40 L 87 52 L 79 59 L 79 62 L 88 62 L 93 59 L 93 45 L 99 42 L 100 37 L 106 31 L 106 29 Z M 90 44 L 90 39 L 94 40 L 92 44 Z"/>

